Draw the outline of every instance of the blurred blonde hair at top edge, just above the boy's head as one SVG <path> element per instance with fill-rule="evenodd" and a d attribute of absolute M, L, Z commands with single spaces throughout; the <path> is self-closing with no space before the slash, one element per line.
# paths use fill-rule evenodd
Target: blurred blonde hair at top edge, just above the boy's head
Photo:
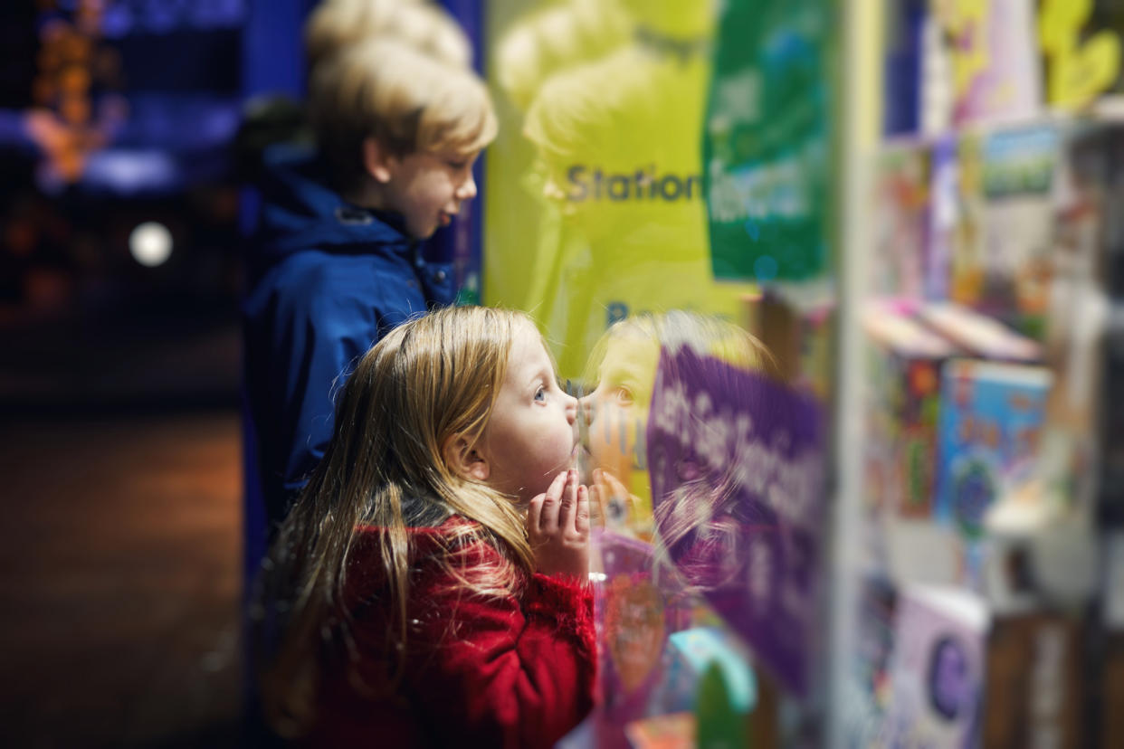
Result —
<path fill-rule="evenodd" d="M 439 6 L 425 0 L 324 0 L 305 24 L 308 70 L 372 38 L 399 39 L 450 65 L 472 64 L 468 36 Z"/>

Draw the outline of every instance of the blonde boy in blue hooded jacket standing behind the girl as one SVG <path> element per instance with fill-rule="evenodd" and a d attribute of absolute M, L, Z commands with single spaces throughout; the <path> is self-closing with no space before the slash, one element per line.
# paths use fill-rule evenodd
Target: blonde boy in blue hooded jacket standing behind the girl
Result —
<path fill-rule="evenodd" d="M 452 303 L 418 243 L 475 195 L 496 136 L 482 82 L 392 39 L 317 64 L 315 154 L 268 157 L 245 313 L 246 389 L 265 512 L 284 517 L 332 436 L 333 393 L 390 328 Z"/>

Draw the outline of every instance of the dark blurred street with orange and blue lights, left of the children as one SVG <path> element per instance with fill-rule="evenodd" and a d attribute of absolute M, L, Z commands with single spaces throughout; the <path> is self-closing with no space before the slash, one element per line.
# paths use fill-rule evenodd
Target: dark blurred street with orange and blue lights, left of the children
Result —
<path fill-rule="evenodd" d="M 233 746 L 251 7 L 0 16 L 0 741 Z"/>

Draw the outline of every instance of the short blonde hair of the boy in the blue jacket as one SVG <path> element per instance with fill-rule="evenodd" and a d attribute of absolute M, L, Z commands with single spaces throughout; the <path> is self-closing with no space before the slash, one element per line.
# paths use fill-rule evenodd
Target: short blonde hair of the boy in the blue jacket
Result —
<path fill-rule="evenodd" d="M 469 156 L 496 137 L 496 112 L 475 73 L 396 39 L 342 49 L 314 72 L 309 109 L 337 188 L 361 183 L 363 141 L 393 155 Z"/>

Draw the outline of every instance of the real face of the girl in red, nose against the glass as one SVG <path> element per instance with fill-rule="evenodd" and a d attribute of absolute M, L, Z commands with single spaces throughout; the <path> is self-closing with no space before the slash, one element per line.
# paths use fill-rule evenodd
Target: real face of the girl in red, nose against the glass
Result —
<path fill-rule="evenodd" d="M 478 448 L 487 483 L 526 504 L 574 460 L 578 400 L 559 387 L 542 337 L 529 322 L 515 336 L 507 375 Z"/>

